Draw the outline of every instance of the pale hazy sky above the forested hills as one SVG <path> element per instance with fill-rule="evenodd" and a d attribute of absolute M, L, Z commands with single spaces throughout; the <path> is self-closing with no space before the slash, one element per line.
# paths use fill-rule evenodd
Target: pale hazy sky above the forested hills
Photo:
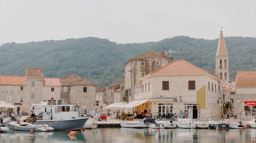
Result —
<path fill-rule="evenodd" d="M 256 37 L 255 0 L 1 0 L 0 44 L 99 37 L 117 43 L 185 35 Z"/>

